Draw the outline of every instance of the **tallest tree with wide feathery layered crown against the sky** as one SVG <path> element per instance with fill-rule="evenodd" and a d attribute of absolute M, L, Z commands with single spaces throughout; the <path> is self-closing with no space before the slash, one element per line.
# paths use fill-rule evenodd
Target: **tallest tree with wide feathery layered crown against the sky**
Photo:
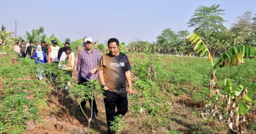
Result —
<path fill-rule="evenodd" d="M 219 7 L 220 5 L 215 4 L 210 7 L 198 6 L 193 18 L 187 23 L 189 27 L 195 27 L 194 32 L 202 37 L 207 47 L 209 47 L 212 35 L 226 29 L 223 23 L 227 21 L 221 17 L 225 10 L 219 9 Z"/>

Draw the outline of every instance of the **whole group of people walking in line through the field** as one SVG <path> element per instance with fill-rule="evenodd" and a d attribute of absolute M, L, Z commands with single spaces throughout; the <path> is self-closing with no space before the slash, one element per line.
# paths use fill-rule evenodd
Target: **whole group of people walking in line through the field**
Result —
<path fill-rule="evenodd" d="M 73 70 L 77 74 L 79 84 L 87 85 L 89 80 L 99 78 L 105 96 L 108 134 L 114 134 L 115 132 L 111 131 L 110 128 L 114 117 L 120 114 L 124 116 L 128 111 L 127 95 L 132 94 L 131 65 L 128 57 L 119 53 L 119 40 L 116 38 L 108 40 L 109 53 L 104 55 L 101 55 L 99 50 L 93 48 L 93 39 L 91 37 L 84 37 L 83 43 L 84 46 L 77 48 L 76 53 L 74 53 L 71 51 L 69 43 L 65 43 L 65 46 L 60 48 L 57 46 L 57 41 L 52 40 L 52 46 L 48 45 L 48 49 L 44 49 L 44 42 L 41 45 L 36 42 L 35 46 L 31 42 L 29 46 L 26 46 L 25 41 L 22 41 L 22 44 L 17 44 L 15 52 L 20 52 L 20 57 L 25 57 L 27 54 L 28 57 L 41 63 L 54 62 L 70 75 L 72 75 Z M 66 62 L 65 64 L 60 64 L 61 61 Z M 128 89 L 126 88 L 126 81 Z M 89 100 L 89 102 L 93 117 L 96 117 L 98 110 L 95 98 L 93 97 L 93 100 Z M 80 104 L 84 108 L 86 100 L 83 100 Z"/>

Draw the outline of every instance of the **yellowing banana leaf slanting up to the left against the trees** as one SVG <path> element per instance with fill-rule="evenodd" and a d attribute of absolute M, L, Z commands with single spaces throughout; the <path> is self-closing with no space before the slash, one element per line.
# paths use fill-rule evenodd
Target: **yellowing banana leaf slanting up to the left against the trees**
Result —
<path fill-rule="evenodd" d="M 207 52 L 208 60 L 211 60 L 213 66 L 212 55 L 210 54 L 209 49 L 204 44 L 203 40 L 194 32 L 186 36 L 186 39 L 188 39 L 191 44 L 195 45 L 193 49 L 197 54 L 201 51 L 200 56 L 203 56 Z"/>

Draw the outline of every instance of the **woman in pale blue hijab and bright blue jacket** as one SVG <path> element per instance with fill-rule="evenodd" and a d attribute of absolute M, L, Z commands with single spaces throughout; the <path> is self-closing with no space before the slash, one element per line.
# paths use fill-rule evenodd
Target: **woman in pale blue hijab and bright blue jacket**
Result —
<path fill-rule="evenodd" d="M 37 48 L 36 48 L 36 51 L 33 55 L 33 59 L 37 60 L 35 63 L 38 64 L 38 63 L 47 63 L 47 59 L 46 59 L 46 55 L 44 53 L 44 51 L 42 51 L 42 47 L 41 45 L 38 45 Z M 43 70 L 39 71 L 38 70 L 38 79 L 39 80 L 42 80 L 44 79 L 44 75 L 43 75 Z"/>

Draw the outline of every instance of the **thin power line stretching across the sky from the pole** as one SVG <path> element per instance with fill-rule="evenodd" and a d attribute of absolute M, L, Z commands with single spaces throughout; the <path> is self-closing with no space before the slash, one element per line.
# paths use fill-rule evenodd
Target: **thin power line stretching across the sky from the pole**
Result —
<path fill-rule="evenodd" d="M 19 22 L 17 22 L 17 23 L 19 23 Z M 35 25 L 30 25 L 30 24 L 25 24 L 25 23 L 19 23 L 19 24 L 28 25 L 28 26 L 35 26 Z M 41 26 L 35 26 L 35 27 L 41 27 Z M 79 32 L 79 31 L 68 31 L 68 30 L 62 30 L 62 29 L 53 29 L 53 28 L 47 28 L 47 27 L 44 27 L 44 29 L 52 29 L 52 30 L 73 32 L 73 33 L 79 33 L 79 34 L 92 34 L 92 33 L 84 33 L 84 32 Z M 93 34 L 93 35 L 116 36 L 116 37 L 157 37 L 157 36 L 122 36 L 122 35 L 108 35 L 108 34 Z"/>

